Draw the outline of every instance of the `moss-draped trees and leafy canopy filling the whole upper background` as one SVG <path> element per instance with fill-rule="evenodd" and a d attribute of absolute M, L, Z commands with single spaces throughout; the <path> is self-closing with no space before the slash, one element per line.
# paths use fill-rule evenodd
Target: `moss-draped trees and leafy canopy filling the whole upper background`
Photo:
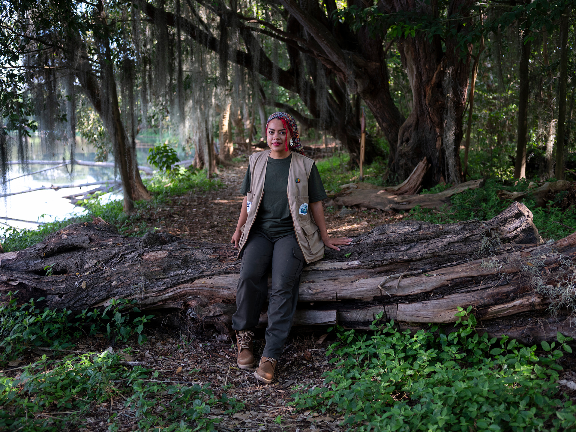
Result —
<path fill-rule="evenodd" d="M 431 164 L 427 186 L 464 180 L 466 115 L 477 126 L 466 152 L 469 142 L 486 148 L 494 137 L 514 143 L 521 177 L 532 147 L 540 147 L 550 174 L 566 151 L 553 155 L 556 126 L 562 144 L 570 135 L 572 59 L 564 42 L 560 62 L 560 45 L 573 38 L 562 39 L 560 28 L 564 20 L 567 36 L 572 3 L 6 1 L 2 175 L 13 143 L 27 159 L 31 132 L 40 132 L 46 153 L 65 143 L 71 159 L 79 133 L 101 158 L 113 154 L 130 211 L 130 200 L 149 198 L 132 161 L 143 129 L 175 131 L 179 146 L 194 147 L 196 166 L 211 172 L 215 138 L 225 160 L 232 131 L 237 143 L 257 141 L 266 110 L 281 109 L 304 130 L 339 139 L 355 164 L 364 105 L 372 122 L 367 162 L 388 158 L 390 181 L 406 179 L 423 157 Z"/>

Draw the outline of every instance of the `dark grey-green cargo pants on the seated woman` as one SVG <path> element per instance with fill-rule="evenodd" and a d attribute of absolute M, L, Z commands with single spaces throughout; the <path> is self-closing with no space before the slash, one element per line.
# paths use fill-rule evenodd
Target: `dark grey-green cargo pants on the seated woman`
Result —
<path fill-rule="evenodd" d="M 240 281 L 236 291 L 234 330 L 256 327 L 268 294 L 268 269 L 272 266 L 272 287 L 268 304 L 266 347 L 262 355 L 278 359 L 298 302 L 298 286 L 304 267 L 304 255 L 295 234 L 270 238 L 262 232 L 251 232 L 244 247 Z"/>

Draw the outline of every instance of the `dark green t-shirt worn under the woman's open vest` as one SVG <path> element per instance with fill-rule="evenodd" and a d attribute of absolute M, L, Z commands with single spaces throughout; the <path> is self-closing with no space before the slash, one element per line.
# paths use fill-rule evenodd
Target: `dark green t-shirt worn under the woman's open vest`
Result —
<path fill-rule="evenodd" d="M 292 155 L 284 159 L 273 159 L 268 156 L 266 179 L 264 179 L 264 195 L 256 215 L 253 228 L 266 233 L 272 238 L 286 236 L 294 232 L 292 216 L 288 206 L 288 172 Z M 246 195 L 250 191 L 250 166 L 246 170 L 240 193 Z M 312 165 L 308 177 L 308 203 L 328 198 L 316 164 Z"/>

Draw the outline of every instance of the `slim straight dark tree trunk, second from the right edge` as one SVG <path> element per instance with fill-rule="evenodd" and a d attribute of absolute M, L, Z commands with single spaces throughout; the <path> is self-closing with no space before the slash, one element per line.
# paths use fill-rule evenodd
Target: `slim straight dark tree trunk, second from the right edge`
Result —
<path fill-rule="evenodd" d="M 528 81 L 528 66 L 530 62 L 530 40 L 524 42 L 520 32 L 520 65 L 518 67 L 518 77 L 520 85 L 518 88 L 518 137 L 516 143 L 516 164 L 514 167 L 514 178 L 526 178 L 526 143 L 528 142 L 528 98 L 530 97 L 530 82 Z"/>

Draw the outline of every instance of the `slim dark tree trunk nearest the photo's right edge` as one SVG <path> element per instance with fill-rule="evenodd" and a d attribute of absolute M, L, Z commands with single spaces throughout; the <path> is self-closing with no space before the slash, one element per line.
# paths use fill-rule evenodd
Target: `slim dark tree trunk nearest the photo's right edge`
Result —
<path fill-rule="evenodd" d="M 556 134 L 556 180 L 564 179 L 564 136 L 566 135 L 566 82 L 568 81 L 568 14 L 560 18 L 560 80 L 558 86 L 558 134 Z"/>

